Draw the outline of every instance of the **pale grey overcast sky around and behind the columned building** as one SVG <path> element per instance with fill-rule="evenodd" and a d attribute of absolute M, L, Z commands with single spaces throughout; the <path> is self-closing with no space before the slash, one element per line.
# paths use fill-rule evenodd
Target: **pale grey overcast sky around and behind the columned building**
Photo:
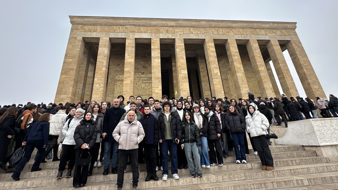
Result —
<path fill-rule="evenodd" d="M 337 7 L 333 0 L 3 1 L 0 105 L 54 101 L 69 15 L 297 22 L 296 32 L 324 92 L 338 96 Z M 287 51 L 284 55 L 300 96 L 306 97 Z"/>

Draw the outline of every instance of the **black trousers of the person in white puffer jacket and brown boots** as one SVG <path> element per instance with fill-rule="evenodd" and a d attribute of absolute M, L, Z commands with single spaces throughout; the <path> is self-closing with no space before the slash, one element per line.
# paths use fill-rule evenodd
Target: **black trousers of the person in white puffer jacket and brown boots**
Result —
<path fill-rule="evenodd" d="M 273 158 L 269 148 L 269 144 L 266 140 L 265 135 L 260 135 L 258 137 L 252 137 L 257 148 L 259 159 L 262 162 L 262 166 L 273 167 Z"/>

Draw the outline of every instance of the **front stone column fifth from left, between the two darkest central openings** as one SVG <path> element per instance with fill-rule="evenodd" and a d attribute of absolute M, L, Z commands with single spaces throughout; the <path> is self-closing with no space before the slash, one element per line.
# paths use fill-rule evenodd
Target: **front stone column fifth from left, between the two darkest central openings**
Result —
<path fill-rule="evenodd" d="M 175 56 L 177 71 L 177 96 L 187 97 L 190 95 L 188 70 L 186 61 L 186 51 L 184 48 L 184 40 L 182 38 L 175 39 Z M 176 97 L 176 96 L 175 96 Z"/>

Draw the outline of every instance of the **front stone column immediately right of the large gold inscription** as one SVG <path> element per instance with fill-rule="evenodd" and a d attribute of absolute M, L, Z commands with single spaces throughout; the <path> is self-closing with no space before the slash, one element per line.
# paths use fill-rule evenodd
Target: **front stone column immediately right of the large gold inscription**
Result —
<path fill-rule="evenodd" d="M 151 39 L 151 80 L 153 81 L 152 96 L 162 96 L 162 80 L 161 80 L 161 53 L 160 39 Z"/>

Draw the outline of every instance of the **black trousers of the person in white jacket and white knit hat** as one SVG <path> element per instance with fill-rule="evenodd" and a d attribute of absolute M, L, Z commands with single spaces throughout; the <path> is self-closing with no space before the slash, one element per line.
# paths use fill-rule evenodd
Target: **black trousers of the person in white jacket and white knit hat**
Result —
<path fill-rule="evenodd" d="M 73 169 L 75 165 L 75 145 L 68 145 L 63 144 L 62 145 L 62 155 L 60 157 L 60 163 L 59 163 L 59 169 L 58 171 L 65 170 L 65 167 L 68 163 L 68 169 Z M 78 159 L 77 159 L 78 160 Z"/>

